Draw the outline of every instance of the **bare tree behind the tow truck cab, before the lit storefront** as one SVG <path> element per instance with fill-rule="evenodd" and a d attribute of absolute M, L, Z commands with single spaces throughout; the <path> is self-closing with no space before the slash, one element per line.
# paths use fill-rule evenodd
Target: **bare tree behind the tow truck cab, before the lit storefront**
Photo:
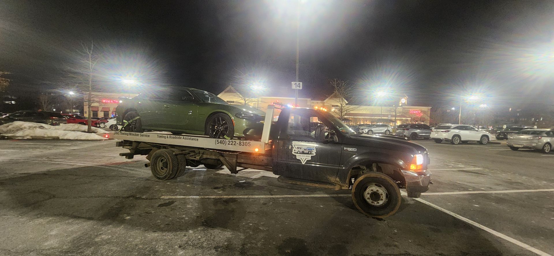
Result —
<path fill-rule="evenodd" d="M 345 119 L 345 116 L 353 111 L 360 109 L 359 105 L 349 105 L 348 100 L 355 100 L 357 98 L 357 92 L 351 86 L 348 86 L 348 81 L 339 79 L 331 80 L 331 86 L 333 87 L 333 93 L 329 95 L 332 99 L 331 112 L 335 113 L 340 120 Z"/>

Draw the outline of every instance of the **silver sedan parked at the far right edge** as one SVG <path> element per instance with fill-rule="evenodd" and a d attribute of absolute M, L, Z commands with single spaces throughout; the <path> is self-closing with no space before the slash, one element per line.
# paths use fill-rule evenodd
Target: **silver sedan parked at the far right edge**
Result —
<path fill-rule="evenodd" d="M 508 135 L 506 141 L 506 146 L 511 150 L 535 149 L 543 153 L 550 153 L 553 144 L 554 130 L 552 129 L 524 129 Z"/>

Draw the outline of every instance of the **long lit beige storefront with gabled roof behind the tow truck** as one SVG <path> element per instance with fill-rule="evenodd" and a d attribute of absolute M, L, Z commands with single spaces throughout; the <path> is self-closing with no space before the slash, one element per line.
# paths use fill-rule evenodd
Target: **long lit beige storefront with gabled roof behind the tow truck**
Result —
<path fill-rule="evenodd" d="M 220 93 L 219 98 L 230 104 L 244 105 L 244 97 L 240 95 L 232 86 L 228 86 Z M 240 99 L 240 100 L 237 100 Z M 265 111 L 266 107 L 273 103 L 295 106 L 294 98 L 260 96 L 258 98 L 247 99 L 247 105 L 257 107 Z M 299 98 L 297 107 L 324 108 L 337 116 L 338 109 L 342 108 L 343 120 L 346 124 L 410 124 L 419 123 L 429 125 L 430 106 L 363 106 L 363 105 L 345 105 L 345 100 L 339 99 L 334 95 L 325 100 L 312 100 L 309 98 Z M 342 107 L 341 107 L 342 106 Z"/>

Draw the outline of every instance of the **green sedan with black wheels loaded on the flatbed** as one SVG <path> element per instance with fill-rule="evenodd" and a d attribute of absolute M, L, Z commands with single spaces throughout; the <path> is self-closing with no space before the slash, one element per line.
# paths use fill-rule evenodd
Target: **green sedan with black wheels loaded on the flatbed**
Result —
<path fill-rule="evenodd" d="M 125 131 L 170 131 L 216 139 L 257 137 L 265 119 L 261 110 L 229 105 L 214 94 L 193 88 L 160 89 L 123 99 L 116 112 Z"/>

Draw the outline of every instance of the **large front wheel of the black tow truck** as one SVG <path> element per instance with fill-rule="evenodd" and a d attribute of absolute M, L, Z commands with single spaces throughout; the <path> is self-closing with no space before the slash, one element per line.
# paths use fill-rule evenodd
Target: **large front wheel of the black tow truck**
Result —
<path fill-rule="evenodd" d="M 402 197 L 391 177 L 380 172 L 367 173 L 352 186 L 352 201 L 363 214 L 384 218 L 398 211 Z"/>

